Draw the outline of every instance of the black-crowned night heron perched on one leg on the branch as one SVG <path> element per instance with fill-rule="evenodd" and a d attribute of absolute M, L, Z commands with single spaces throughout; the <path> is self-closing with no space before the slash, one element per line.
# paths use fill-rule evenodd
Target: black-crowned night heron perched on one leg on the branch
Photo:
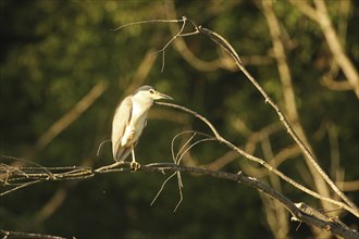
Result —
<path fill-rule="evenodd" d="M 147 124 L 147 114 L 154 100 L 171 97 L 156 91 L 150 86 L 138 88 L 117 106 L 112 122 L 112 153 L 115 161 L 124 161 L 132 152 L 131 168 L 137 169 L 134 148 Z"/>

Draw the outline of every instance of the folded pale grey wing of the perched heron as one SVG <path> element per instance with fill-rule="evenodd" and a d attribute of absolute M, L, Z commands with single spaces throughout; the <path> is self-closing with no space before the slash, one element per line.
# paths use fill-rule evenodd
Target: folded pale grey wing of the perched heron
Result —
<path fill-rule="evenodd" d="M 125 131 L 126 125 L 128 124 L 132 116 L 132 100 L 131 97 L 126 97 L 116 109 L 113 121 L 112 121 L 112 153 L 113 159 L 119 161 L 123 156 L 125 151 L 124 147 L 121 147 L 122 136 Z M 128 153 L 126 153 L 128 155 Z"/>

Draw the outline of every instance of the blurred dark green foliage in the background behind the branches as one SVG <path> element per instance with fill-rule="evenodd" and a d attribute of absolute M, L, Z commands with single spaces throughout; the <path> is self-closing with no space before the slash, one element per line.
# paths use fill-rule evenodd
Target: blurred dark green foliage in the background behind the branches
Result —
<path fill-rule="evenodd" d="M 341 1 L 327 1 L 333 25 L 347 21 L 345 50 L 356 65 L 358 50 L 358 2 L 351 2 L 347 18 L 335 9 Z M 44 166 L 95 165 L 111 163 L 110 143 L 96 158 L 98 144 L 110 137 L 113 111 L 133 83 L 137 67 L 149 49 L 161 49 L 173 36 L 168 24 L 150 23 L 111 29 L 136 21 L 168 18 L 169 1 L 0 1 L 0 153 L 22 158 L 38 138 L 71 110 L 97 83 L 108 89 L 73 124 L 33 159 Z M 320 27 L 292 4 L 277 1 L 275 12 L 287 30 L 290 45 L 287 60 L 293 74 L 300 123 L 312 143 L 320 164 L 331 172 L 331 150 L 326 128 L 338 135 L 341 166 L 345 179 L 359 177 L 359 113 L 352 91 L 333 91 L 321 84 L 329 70 L 331 53 Z M 178 14 L 222 34 L 240 56 L 271 55 L 272 40 L 265 18 L 255 1 L 176 1 Z M 345 38 L 346 37 L 346 38 Z M 216 58 L 215 45 L 202 36 L 185 38 L 188 48 L 202 60 Z M 278 122 L 274 111 L 237 72 L 200 72 L 170 46 L 161 73 L 161 54 L 146 78 L 147 85 L 172 96 L 175 103 L 208 117 L 235 144 L 247 136 L 234 122 L 240 120 L 256 131 Z M 283 92 L 275 60 L 248 64 L 248 71 L 283 108 Z M 338 73 L 338 78 L 344 78 Z M 128 92 L 127 92 L 128 93 Z M 159 113 L 169 111 L 154 106 Z M 196 130 L 209 133 L 203 124 L 190 120 Z M 186 125 L 188 127 L 188 125 Z M 140 163 L 171 162 L 170 142 L 183 124 L 153 116 L 136 148 Z M 323 129 L 324 128 L 324 129 Z M 323 131 L 324 130 L 324 131 Z M 293 143 L 285 130 L 273 136 L 278 152 Z M 198 164 L 210 163 L 227 151 L 208 142 L 191 151 Z M 255 151 L 263 156 L 260 147 Z M 244 159 L 239 159 L 244 161 Z M 281 169 L 301 181 L 297 156 Z M 301 162 L 301 163 L 300 163 Z M 225 168 L 237 172 L 234 161 Z M 145 173 L 98 176 L 79 183 L 39 184 L 0 198 L 0 228 L 44 232 L 76 238 L 259 238 L 273 237 L 257 191 L 242 185 L 208 177 L 183 175 L 184 201 L 171 180 L 153 206 L 149 206 L 163 175 Z M 65 188 L 60 206 L 45 221 L 38 215 L 52 196 Z M 284 186 L 294 201 L 309 197 Z M 358 203 L 358 193 L 348 192 Z M 349 216 L 348 222 L 352 219 Z M 293 238 L 310 234 L 290 223 Z"/>

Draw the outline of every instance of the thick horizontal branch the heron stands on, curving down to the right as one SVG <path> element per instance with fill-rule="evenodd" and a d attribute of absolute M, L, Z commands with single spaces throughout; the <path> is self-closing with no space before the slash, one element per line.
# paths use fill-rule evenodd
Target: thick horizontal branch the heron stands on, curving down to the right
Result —
<path fill-rule="evenodd" d="M 107 173 L 124 173 L 129 172 L 129 162 L 115 162 L 111 165 L 106 165 L 98 168 L 84 167 L 84 166 L 73 166 L 73 167 L 24 167 L 12 168 L 11 171 L 3 172 L 0 171 L 0 178 L 3 181 L 3 186 L 13 186 L 18 184 L 24 184 L 24 181 L 58 181 L 58 180 L 74 180 L 74 179 L 87 179 L 95 177 L 99 174 Z M 2 168 L 4 168 L 2 164 Z M 11 167 L 11 166 L 9 166 Z M 9 168 L 10 169 L 10 168 Z M 294 221 L 300 221 L 309 225 L 313 225 L 318 228 L 324 229 L 329 232 L 335 234 L 337 236 L 355 239 L 359 237 L 359 232 L 348 228 L 343 223 L 331 218 L 318 211 L 315 213 L 310 213 L 302 205 L 305 204 L 295 204 L 288 198 L 284 197 L 282 193 L 277 192 L 270 186 L 259 181 L 257 178 L 245 176 L 242 172 L 237 174 L 221 172 L 221 171 L 209 171 L 201 167 L 190 167 L 182 166 L 174 163 L 152 163 L 147 165 L 140 165 L 139 172 L 147 173 L 195 173 L 200 175 L 207 175 L 215 178 L 233 180 L 242 183 L 244 185 L 250 186 L 267 196 L 271 197 L 274 200 L 277 200 L 285 209 L 287 209 L 293 215 Z M 4 173 L 7 175 L 4 175 Z M 3 180 L 7 176 L 7 180 Z M 5 192 L 0 193 L 0 196 L 5 194 Z M 311 211 L 312 212 L 312 211 Z"/>

